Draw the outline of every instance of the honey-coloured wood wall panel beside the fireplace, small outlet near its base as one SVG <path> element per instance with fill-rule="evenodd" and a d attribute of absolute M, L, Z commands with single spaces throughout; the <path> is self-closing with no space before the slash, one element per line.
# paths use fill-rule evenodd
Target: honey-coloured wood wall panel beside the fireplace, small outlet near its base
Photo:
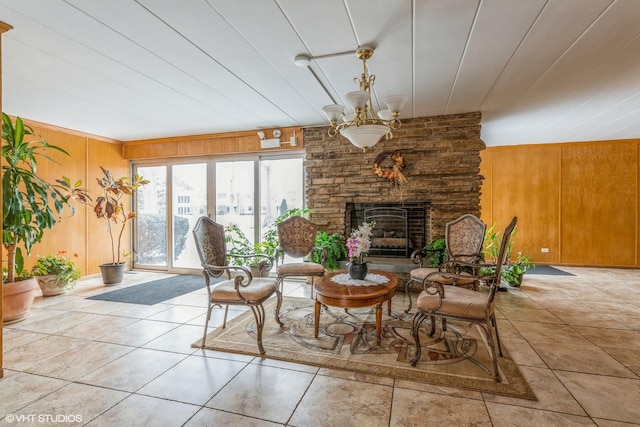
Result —
<path fill-rule="evenodd" d="M 492 221 L 503 230 L 518 217 L 514 251 L 535 262 L 560 260 L 560 148 L 557 145 L 499 147 L 492 151 Z M 549 252 L 542 252 L 547 248 Z"/>

